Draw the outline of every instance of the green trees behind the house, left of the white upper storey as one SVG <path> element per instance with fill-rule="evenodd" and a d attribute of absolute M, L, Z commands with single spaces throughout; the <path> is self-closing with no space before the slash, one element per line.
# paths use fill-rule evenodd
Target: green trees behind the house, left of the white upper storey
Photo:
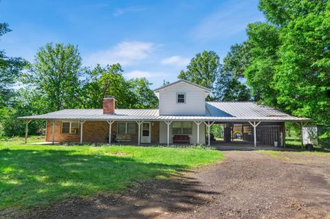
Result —
<path fill-rule="evenodd" d="M 3 23 L 1 34 L 10 31 Z M 105 95 L 114 95 L 118 108 L 157 108 L 158 100 L 146 78 L 126 80 L 120 64 L 83 67 L 78 47 L 48 43 L 34 62 L 0 58 L 0 136 L 23 135 L 17 117 L 65 108 L 102 108 Z M 43 132 L 45 122 L 30 124 L 30 134 Z"/>

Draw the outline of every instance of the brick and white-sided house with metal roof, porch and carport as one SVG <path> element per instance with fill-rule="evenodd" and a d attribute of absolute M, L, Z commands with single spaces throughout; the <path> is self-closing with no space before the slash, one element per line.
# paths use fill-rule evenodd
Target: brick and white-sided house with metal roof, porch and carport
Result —
<path fill-rule="evenodd" d="M 208 143 L 210 126 L 223 124 L 224 141 L 230 142 L 234 127 L 245 141 L 285 146 L 284 122 L 308 122 L 253 102 L 206 102 L 210 89 L 178 80 L 154 90 L 159 108 L 115 108 L 115 97 L 104 97 L 100 109 L 65 109 L 44 115 L 19 117 L 26 124 L 44 119 L 46 141 L 77 143 L 128 142 L 170 144 Z M 25 138 L 26 139 L 26 138 Z"/>

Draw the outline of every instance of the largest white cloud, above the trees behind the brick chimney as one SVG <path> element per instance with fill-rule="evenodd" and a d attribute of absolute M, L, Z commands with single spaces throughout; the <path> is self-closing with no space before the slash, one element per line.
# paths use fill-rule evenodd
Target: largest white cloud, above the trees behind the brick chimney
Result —
<path fill-rule="evenodd" d="M 120 63 L 120 65 L 132 65 L 133 63 L 144 60 L 155 49 L 154 43 L 148 42 L 122 42 L 115 47 L 96 51 L 85 58 L 85 65 L 112 65 L 113 63 Z"/>

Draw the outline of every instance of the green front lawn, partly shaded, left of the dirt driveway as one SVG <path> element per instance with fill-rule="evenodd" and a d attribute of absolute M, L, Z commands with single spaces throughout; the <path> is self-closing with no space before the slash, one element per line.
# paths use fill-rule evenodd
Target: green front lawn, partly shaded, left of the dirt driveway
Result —
<path fill-rule="evenodd" d="M 0 210 L 118 192 L 221 161 L 217 150 L 136 146 L 32 146 L 0 141 Z"/>

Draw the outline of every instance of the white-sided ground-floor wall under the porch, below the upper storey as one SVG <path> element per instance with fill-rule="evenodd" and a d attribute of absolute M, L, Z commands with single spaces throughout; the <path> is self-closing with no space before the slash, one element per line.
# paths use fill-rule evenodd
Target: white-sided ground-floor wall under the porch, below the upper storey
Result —
<path fill-rule="evenodd" d="M 205 124 L 199 125 L 199 143 L 205 143 Z M 189 135 L 190 143 L 197 143 L 197 124 L 192 122 L 192 135 Z M 159 123 L 159 143 L 167 143 L 167 125 Z M 170 124 L 170 143 L 173 143 L 172 124 Z"/>

